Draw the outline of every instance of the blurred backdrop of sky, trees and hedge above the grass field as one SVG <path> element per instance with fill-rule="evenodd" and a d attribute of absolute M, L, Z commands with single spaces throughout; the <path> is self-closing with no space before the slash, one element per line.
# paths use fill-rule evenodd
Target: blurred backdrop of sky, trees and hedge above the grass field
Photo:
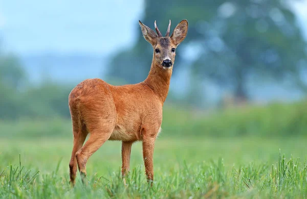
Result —
<path fill-rule="evenodd" d="M 161 32 L 187 19 L 162 136 L 289 136 L 307 130 L 307 1 L 0 0 L 0 136 L 72 137 L 81 81 L 143 81 Z"/>

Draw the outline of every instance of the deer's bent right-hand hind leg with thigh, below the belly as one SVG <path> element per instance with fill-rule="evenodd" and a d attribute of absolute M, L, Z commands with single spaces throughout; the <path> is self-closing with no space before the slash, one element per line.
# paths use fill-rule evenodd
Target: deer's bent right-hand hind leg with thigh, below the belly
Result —
<path fill-rule="evenodd" d="M 86 124 L 90 131 L 90 138 L 76 153 L 76 159 L 83 183 L 86 177 L 86 162 L 100 148 L 100 146 L 109 139 L 114 131 L 115 123 L 107 119 L 102 119 L 99 122 Z"/>

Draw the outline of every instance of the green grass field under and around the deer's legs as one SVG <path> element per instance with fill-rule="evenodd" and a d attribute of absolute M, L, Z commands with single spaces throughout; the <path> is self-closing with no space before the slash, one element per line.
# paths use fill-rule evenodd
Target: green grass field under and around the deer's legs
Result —
<path fill-rule="evenodd" d="M 149 188 L 141 143 L 133 145 L 125 186 L 120 177 L 121 144 L 108 141 L 87 163 L 88 185 L 81 184 L 78 174 L 71 189 L 71 139 L 1 139 L 0 198 L 304 198 L 306 142 L 305 137 L 162 135 L 155 148 L 155 182 Z"/>

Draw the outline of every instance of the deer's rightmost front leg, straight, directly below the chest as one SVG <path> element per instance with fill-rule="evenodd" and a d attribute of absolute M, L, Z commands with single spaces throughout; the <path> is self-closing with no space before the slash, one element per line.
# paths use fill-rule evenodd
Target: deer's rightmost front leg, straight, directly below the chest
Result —
<path fill-rule="evenodd" d="M 147 176 L 147 182 L 150 182 L 152 186 L 153 181 L 153 148 L 155 148 L 155 137 L 143 138 L 143 158 L 145 164 L 145 172 Z"/>

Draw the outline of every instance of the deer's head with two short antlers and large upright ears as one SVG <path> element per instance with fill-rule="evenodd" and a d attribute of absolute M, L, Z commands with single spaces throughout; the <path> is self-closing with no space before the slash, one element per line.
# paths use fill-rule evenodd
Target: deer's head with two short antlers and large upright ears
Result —
<path fill-rule="evenodd" d="M 166 35 L 163 37 L 159 31 L 156 21 L 155 29 L 157 33 L 145 26 L 139 20 L 144 38 L 153 47 L 153 65 L 159 66 L 165 70 L 171 69 L 175 61 L 176 47 L 185 39 L 188 32 L 188 21 L 182 20 L 174 29 L 171 36 L 170 32 L 170 20 L 167 28 Z"/>

